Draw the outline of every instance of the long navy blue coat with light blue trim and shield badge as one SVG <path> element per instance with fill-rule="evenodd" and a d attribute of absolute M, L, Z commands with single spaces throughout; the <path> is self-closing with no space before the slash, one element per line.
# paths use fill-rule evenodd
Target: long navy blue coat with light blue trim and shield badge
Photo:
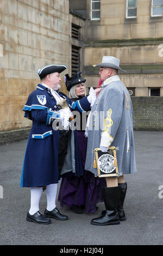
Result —
<path fill-rule="evenodd" d="M 58 92 L 58 94 L 66 98 L 67 104 L 75 111 L 82 112 L 90 108 L 87 97 L 73 102 L 65 94 L 61 92 Z M 23 107 L 24 117 L 32 120 L 33 125 L 24 155 L 21 187 L 37 187 L 58 183 L 59 130 L 53 130 L 52 128 L 53 120 L 60 119 L 56 104 L 51 90 L 42 84 L 38 84 Z M 74 145 L 75 175 L 80 176 L 83 175 L 83 167 L 76 131 L 74 131 Z"/>

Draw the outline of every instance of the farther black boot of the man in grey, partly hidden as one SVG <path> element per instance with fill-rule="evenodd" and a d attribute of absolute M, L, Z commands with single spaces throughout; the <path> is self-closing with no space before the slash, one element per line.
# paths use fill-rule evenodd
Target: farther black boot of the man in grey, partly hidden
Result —
<path fill-rule="evenodd" d="M 118 183 L 118 186 L 121 186 L 121 196 L 120 203 L 118 204 L 118 215 L 120 217 L 120 221 L 126 221 L 126 215 L 123 209 L 124 198 L 126 197 L 127 191 L 127 183 Z"/>

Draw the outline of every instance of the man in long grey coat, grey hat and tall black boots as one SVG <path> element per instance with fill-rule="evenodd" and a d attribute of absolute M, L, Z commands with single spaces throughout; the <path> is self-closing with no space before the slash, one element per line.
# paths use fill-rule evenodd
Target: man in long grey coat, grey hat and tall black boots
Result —
<path fill-rule="evenodd" d="M 126 221 L 123 203 L 127 183 L 123 174 L 136 172 L 133 106 L 126 86 L 117 75 L 118 70 L 122 70 L 119 65 L 120 60 L 112 56 L 104 56 L 102 63 L 96 65 L 100 68 L 103 87 L 89 118 L 85 169 L 97 174 L 97 168 L 93 167 L 93 150 L 100 148 L 102 152 L 106 152 L 111 146 L 118 149 L 117 165 L 120 174 L 118 177 L 106 177 L 106 187 L 103 187 L 106 210 L 91 221 L 94 225 L 120 224 L 120 221 Z"/>

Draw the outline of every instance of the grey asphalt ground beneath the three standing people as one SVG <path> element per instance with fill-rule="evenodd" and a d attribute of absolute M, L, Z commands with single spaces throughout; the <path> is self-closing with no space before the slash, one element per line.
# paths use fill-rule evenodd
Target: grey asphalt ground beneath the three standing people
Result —
<path fill-rule="evenodd" d="M 52 220 L 50 225 L 26 221 L 30 189 L 20 187 L 20 177 L 27 141 L 0 147 L 0 245 L 162 245 L 163 238 L 163 132 L 135 131 L 138 172 L 126 175 L 128 191 L 124 208 L 127 221 L 120 225 L 98 227 L 90 221 L 98 217 L 104 204 L 93 214 L 69 216 L 65 222 Z M 58 186 L 59 187 L 59 186 Z M 160 192 L 160 198 L 159 198 Z M 57 203 L 60 209 L 59 203 Z M 46 194 L 40 210 L 46 208 Z"/>

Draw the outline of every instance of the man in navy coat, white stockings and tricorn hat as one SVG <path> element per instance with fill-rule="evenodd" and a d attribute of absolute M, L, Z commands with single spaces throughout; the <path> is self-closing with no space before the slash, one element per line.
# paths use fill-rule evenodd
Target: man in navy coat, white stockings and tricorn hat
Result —
<path fill-rule="evenodd" d="M 39 224 L 51 223 L 50 218 L 67 220 L 68 217 L 60 214 L 55 205 L 57 184 L 61 170 L 65 167 L 64 160 L 67 154 L 67 144 L 72 143 L 74 161 L 68 159 L 66 175 L 80 176 L 83 174 L 82 162 L 78 151 L 76 131 L 68 131 L 68 119 L 71 117 L 70 108 L 59 109 L 58 104 L 66 99 L 67 105 L 77 111 L 87 111 L 90 108 L 91 96 L 72 102 L 59 92 L 61 78 L 59 74 L 67 68 L 66 65 L 48 65 L 38 70 L 41 83 L 32 92 L 23 108 L 24 117 L 33 121 L 30 131 L 24 163 L 22 169 L 21 187 L 30 187 L 30 210 L 26 220 Z M 64 129 L 53 125 L 53 121 L 61 121 Z M 69 156 L 68 155 L 68 156 Z M 73 173 L 73 170 L 76 173 Z M 44 215 L 39 210 L 42 187 L 46 186 L 47 208 Z"/>

